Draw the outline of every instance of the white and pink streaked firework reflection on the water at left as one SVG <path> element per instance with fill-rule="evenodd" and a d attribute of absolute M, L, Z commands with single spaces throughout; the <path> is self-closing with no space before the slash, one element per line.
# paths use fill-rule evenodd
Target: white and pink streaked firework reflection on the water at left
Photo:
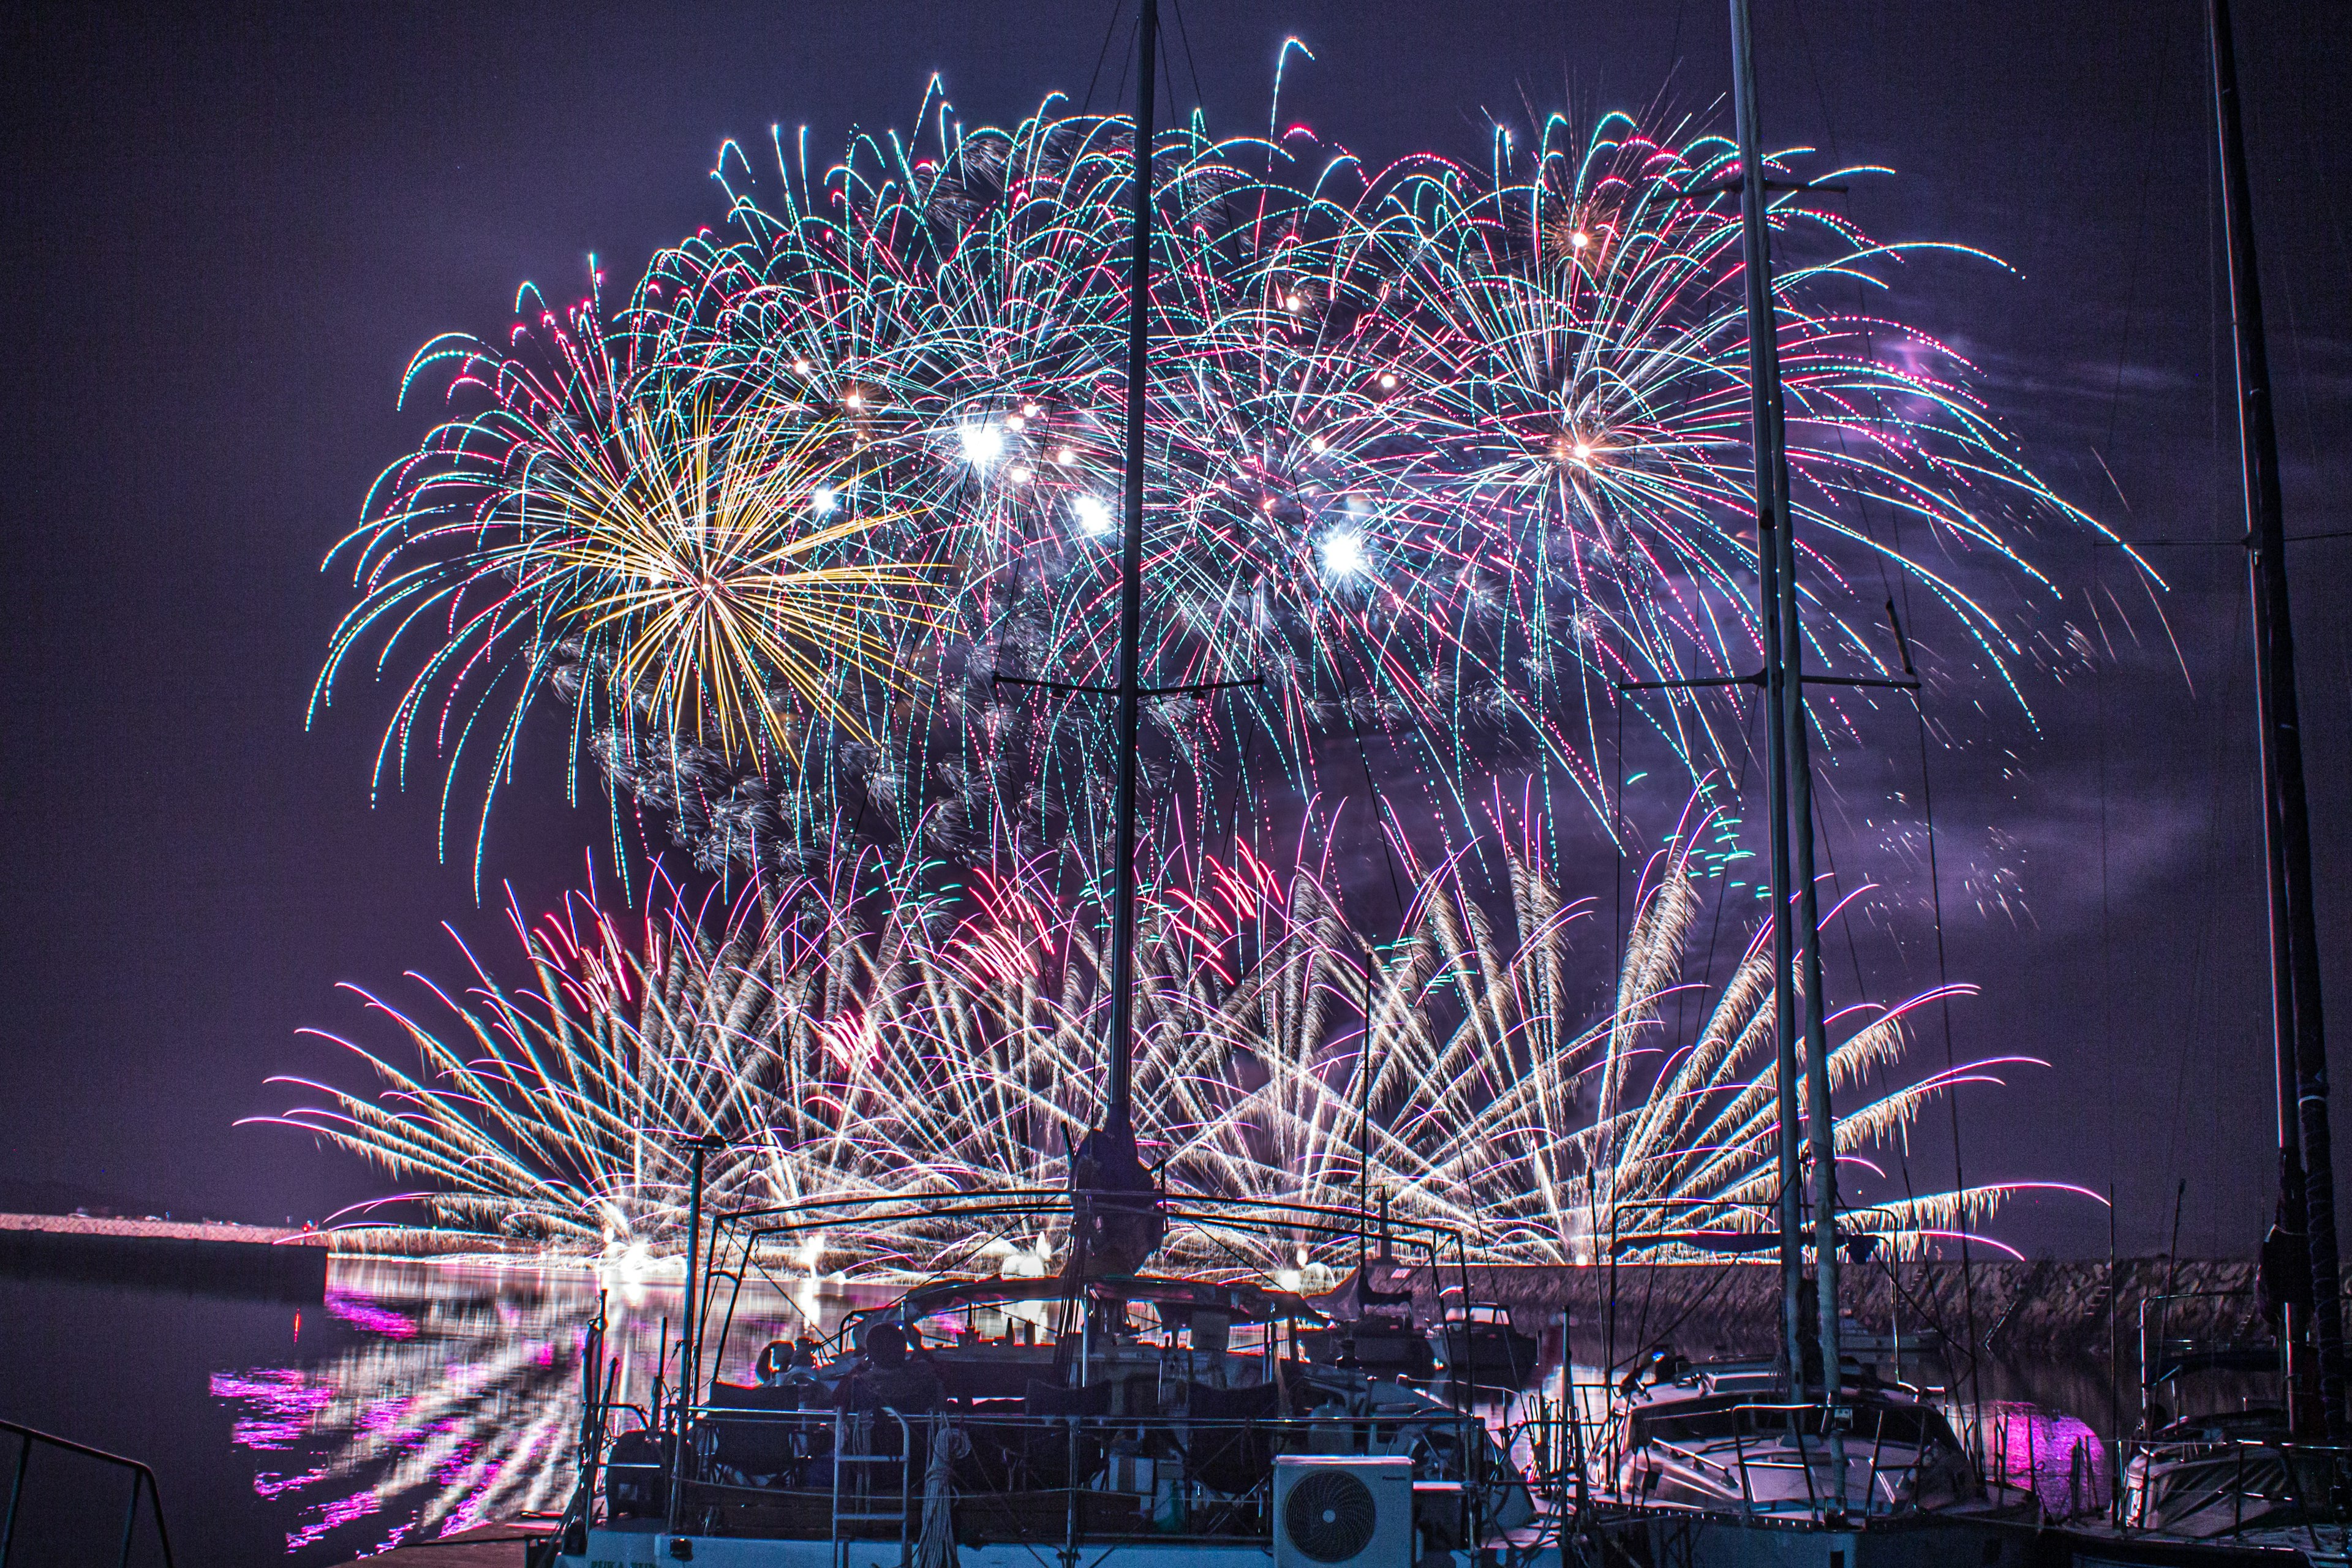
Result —
<path fill-rule="evenodd" d="M 581 1345 L 607 1291 L 619 1399 L 644 1406 L 677 1286 L 593 1274 L 428 1262 L 336 1262 L 327 1312 L 341 1349 L 287 1366 L 221 1368 L 212 1396 L 254 1458 L 254 1493 L 299 1509 L 287 1552 L 348 1554 L 560 1509 L 574 1483 Z M 748 1375 L 771 1338 L 830 1331 L 840 1291 L 797 1300 L 746 1288 L 722 1375 Z M 724 1300 L 722 1300 L 724 1307 Z"/>

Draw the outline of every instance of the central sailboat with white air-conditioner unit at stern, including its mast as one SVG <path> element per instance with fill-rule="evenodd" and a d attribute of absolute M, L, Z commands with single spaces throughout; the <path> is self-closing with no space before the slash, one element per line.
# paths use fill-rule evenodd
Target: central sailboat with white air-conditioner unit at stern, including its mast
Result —
<path fill-rule="evenodd" d="M 1315 1363 L 1324 1316 L 1294 1291 L 1152 1274 L 1171 1227 L 1362 1239 L 1369 1213 L 1169 1194 L 1134 1126 L 1136 748 L 1143 614 L 1143 414 L 1150 353 L 1157 7 L 1141 0 L 1134 113 L 1124 550 L 1117 698 L 1117 882 L 1101 1121 L 1068 1185 L 889 1204 L 821 1199 L 703 1215 L 691 1150 L 677 1392 L 635 1415 L 588 1389 L 579 1488 L 541 1561 L 713 1561 L 746 1568 L 1025 1568 L 1444 1561 L 1531 1547 L 1536 1507 L 1486 1425 L 1362 1363 Z M 1030 682 L 1042 684 L 1042 682 Z M 842 1213 L 962 1234 L 1065 1227 L 1047 1279 L 948 1281 L 856 1312 L 826 1342 L 760 1352 L 724 1382 L 748 1274 Z M 1425 1262 L 1463 1239 L 1397 1222 Z M 731 1281 L 724 1300 L 720 1281 Z M 670 1359 L 666 1359 L 666 1366 Z M 614 1436 L 616 1427 L 640 1429 Z"/>

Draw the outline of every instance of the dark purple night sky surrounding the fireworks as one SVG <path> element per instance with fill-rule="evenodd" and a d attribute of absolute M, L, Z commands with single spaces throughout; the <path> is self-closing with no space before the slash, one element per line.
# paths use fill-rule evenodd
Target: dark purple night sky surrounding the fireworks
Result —
<path fill-rule="evenodd" d="M 906 125 L 934 71 L 967 122 L 1011 122 L 1084 92 L 1105 24 L 1094 0 L 7 9 L 0 1175 L 259 1220 L 388 1190 L 230 1124 L 294 1103 L 273 1072 L 350 1079 L 296 1037 L 360 1025 L 339 980 L 452 973 L 445 919 L 501 950 L 463 811 L 440 863 L 430 780 L 369 804 L 390 693 L 353 684 L 303 729 L 348 604 L 320 557 L 430 416 L 395 409 L 409 355 L 501 331 L 522 280 L 576 296 L 588 252 L 633 277 L 720 223 L 727 136 L 807 122 L 837 148 L 854 122 Z M 2204 548 L 2241 512 L 2201 5 L 1759 0 L 1757 28 L 1771 146 L 1889 165 L 1846 197 L 1865 233 L 2016 268 L 1912 261 L 1879 308 L 1973 360 L 2070 501 L 2199 541 L 2150 552 L 2171 581 L 2152 604 L 2112 550 L 2044 531 L 2065 604 L 2006 590 L 2044 646 L 2032 722 L 1983 682 L 1931 693 L 1957 741 L 1929 757 L 1950 971 L 1985 987 L 1955 1009 L 1957 1051 L 2051 1063 L 1962 1100 L 1969 1175 L 2112 1180 L 2126 1251 L 2164 1246 L 2185 1178 L 2183 1248 L 2246 1253 L 2270 1206 L 2270 1020 L 2244 557 Z M 2352 9 L 2249 0 L 2237 28 L 2288 531 L 2352 529 Z M 1489 118 L 1555 108 L 1663 101 L 1729 132 L 1719 0 L 1190 0 L 1183 35 L 1178 101 L 1197 68 L 1228 132 L 1265 125 L 1277 45 L 1303 38 L 1317 59 L 1294 61 L 1284 120 L 1369 160 L 1479 160 Z M 1115 78 L 1117 59 L 1096 106 Z M 2291 564 L 2340 1037 L 2352 538 Z M 2098 658 L 2049 651 L 2070 628 Z M 485 860 L 527 910 L 604 837 L 595 797 L 562 802 L 557 722 L 534 741 Z M 1863 710 L 1825 785 L 1830 860 L 1846 886 L 1886 882 L 1905 938 L 1832 936 L 1832 994 L 1917 990 L 1926 884 L 1882 832 L 1886 792 L 1919 785 L 1907 705 Z M 1609 886 L 1597 863 L 1571 891 L 1606 907 Z M 1940 1065 L 1940 1034 L 1917 1051 Z M 1922 1187 L 1950 1180 L 1940 1114 L 1910 1159 Z M 2107 1220 L 2049 1197 L 1997 1234 L 2093 1253 Z"/>

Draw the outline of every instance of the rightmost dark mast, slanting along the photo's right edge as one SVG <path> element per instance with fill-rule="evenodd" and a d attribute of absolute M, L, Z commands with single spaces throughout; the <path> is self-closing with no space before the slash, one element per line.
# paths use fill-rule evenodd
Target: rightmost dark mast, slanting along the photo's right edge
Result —
<path fill-rule="evenodd" d="M 2230 315 L 2237 327 L 2239 456 L 2246 468 L 2246 564 L 2253 590 L 2253 691 L 2263 733 L 2263 849 L 2270 863 L 2270 1016 L 2279 1074 L 2279 1213 L 2303 1220 L 2310 1258 L 2310 1347 L 2288 1319 L 2288 1401 L 2310 1387 L 2317 1349 L 2319 1422 L 2345 1434 L 2343 1309 L 2336 1265 L 2336 1161 L 2328 1147 L 2328 1046 L 2319 1011 L 2319 924 L 2312 914 L 2312 818 L 2296 705 L 2296 628 L 2286 602 L 2286 522 L 2279 435 L 2272 425 L 2263 280 L 2253 254 L 2246 139 L 2227 0 L 2206 0 L 2213 33 L 2213 122 L 2220 136 L 2223 223 L 2230 235 Z M 2310 1422 L 2303 1415 L 2300 1427 Z"/>

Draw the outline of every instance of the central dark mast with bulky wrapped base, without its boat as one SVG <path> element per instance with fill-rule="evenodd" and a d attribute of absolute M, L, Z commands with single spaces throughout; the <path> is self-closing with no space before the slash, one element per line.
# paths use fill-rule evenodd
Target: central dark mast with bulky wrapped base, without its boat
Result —
<path fill-rule="evenodd" d="M 1070 1161 L 1070 1267 L 1134 1272 L 1157 1246 L 1157 1190 L 1136 1154 L 1136 738 L 1143 708 L 1143 383 L 1150 369 L 1152 280 L 1152 85 L 1160 5 L 1136 16 L 1134 254 L 1127 273 L 1127 505 L 1120 550 L 1120 778 L 1112 799 L 1115 889 L 1110 903 L 1110 1063 L 1103 1124 Z"/>

